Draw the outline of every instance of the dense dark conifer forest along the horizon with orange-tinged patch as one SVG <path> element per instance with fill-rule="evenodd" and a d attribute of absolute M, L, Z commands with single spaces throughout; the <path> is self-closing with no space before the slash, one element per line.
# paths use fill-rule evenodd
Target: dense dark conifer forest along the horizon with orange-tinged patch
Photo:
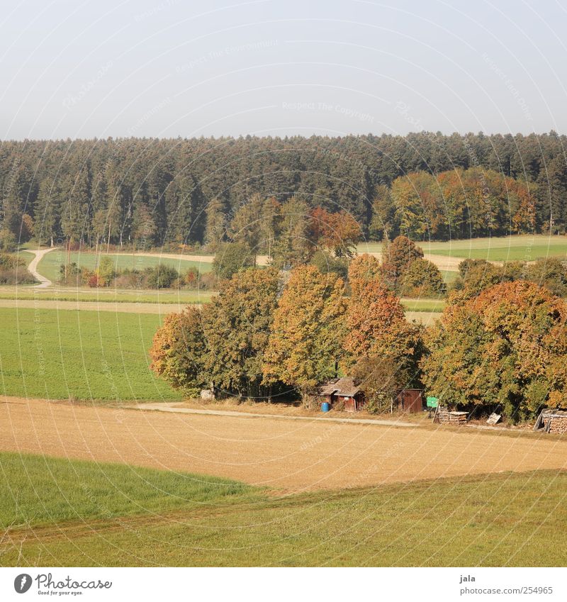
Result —
<path fill-rule="evenodd" d="M 566 233 L 566 143 L 554 132 L 6 141 L 0 229 L 47 244 L 200 245 L 259 196 L 344 211 L 377 240 Z"/>

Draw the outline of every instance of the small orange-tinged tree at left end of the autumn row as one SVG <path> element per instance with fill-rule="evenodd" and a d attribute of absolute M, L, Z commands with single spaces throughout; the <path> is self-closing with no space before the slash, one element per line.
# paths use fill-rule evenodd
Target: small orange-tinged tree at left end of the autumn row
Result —
<path fill-rule="evenodd" d="M 203 333 L 201 311 L 188 306 L 181 313 L 169 313 L 155 333 L 150 349 L 151 369 L 187 395 L 195 395 L 208 383 L 205 362 L 208 347 Z"/>

